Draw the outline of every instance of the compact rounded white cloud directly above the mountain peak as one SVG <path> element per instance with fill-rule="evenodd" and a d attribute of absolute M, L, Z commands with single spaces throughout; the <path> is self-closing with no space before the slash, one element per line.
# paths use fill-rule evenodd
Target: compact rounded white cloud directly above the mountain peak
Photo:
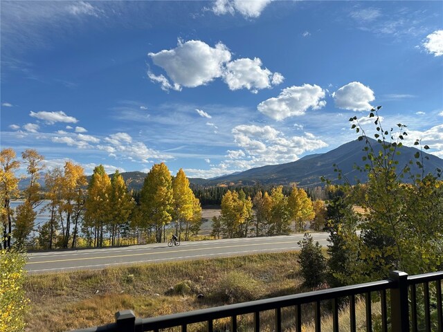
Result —
<path fill-rule="evenodd" d="M 372 108 L 369 102 L 375 99 L 374 91 L 360 82 L 350 82 L 342 86 L 332 93 L 332 97 L 336 107 L 351 111 L 367 111 Z"/>

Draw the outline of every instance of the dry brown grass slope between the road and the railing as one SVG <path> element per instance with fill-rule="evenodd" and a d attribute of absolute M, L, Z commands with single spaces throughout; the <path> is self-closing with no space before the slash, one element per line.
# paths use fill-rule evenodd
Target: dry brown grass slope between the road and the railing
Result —
<path fill-rule="evenodd" d="M 29 275 L 25 285 L 31 301 L 27 331 L 66 331 L 107 324 L 123 309 L 132 309 L 137 317 L 154 317 L 300 293 L 297 258 L 297 252 L 282 252 Z M 254 287 L 244 280 L 253 282 Z M 226 291 L 221 287 L 230 290 L 224 301 L 217 296 Z M 197 299 L 199 293 L 205 295 L 203 300 Z"/>

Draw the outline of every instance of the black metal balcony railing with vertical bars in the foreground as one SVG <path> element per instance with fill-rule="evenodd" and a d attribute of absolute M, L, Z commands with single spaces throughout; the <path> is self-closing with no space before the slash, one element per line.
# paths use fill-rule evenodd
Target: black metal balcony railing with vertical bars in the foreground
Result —
<path fill-rule="evenodd" d="M 230 326 L 228 331 L 237 331 L 237 317 L 240 315 L 252 314 L 253 323 L 251 330 L 258 332 L 262 325 L 260 324 L 262 313 L 264 311 L 273 311 L 274 327 L 271 331 L 282 331 L 282 308 L 292 308 L 293 329 L 292 331 L 302 331 L 302 305 L 312 304 L 314 309 L 314 326 L 315 331 L 321 331 L 322 311 L 320 302 L 330 301 L 331 306 L 328 309 L 328 315 L 332 315 L 333 328 L 332 331 L 339 331 L 338 312 L 340 300 L 345 298 L 349 301 L 349 324 L 350 331 L 356 331 L 356 297 L 365 299 L 365 330 L 373 331 L 372 326 L 372 301 L 374 294 L 379 294 L 381 304 L 381 331 L 387 332 L 405 332 L 405 331 L 443 331 L 443 312 L 442 312 L 442 280 L 443 271 L 436 273 L 426 273 L 424 275 L 408 276 L 401 271 L 393 271 L 390 278 L 379 282 L 368 282 L 365 284 L 357 284 L 352 286 L 330 288 L 323 291 L 314 291 L 309 293 L 301 293 L 296 295 L 288 295 L 282 297 L 273 297 L 270 299 L 260 299 L 258 301 L 244 302 L 239 304 L 230 304 L 228 306 L 219 306 L 215 308 L 207 308 L 186 313 L 177 313 L 173 315 L 165 315 L 153 318 L 136 318 L 134 313 L 129 310 L 119 311 L 116 313 L 116 322 L 91 327 L 89 329 L 76 330 L 78 332 L 138 332 L 138 331 L 154 331 L 159 332 L 161 329 L 179 328 L 181 332 L 187 332 L 188 326 L 195 323 L 204 323 L 208 332 L 217 331 L 214 321 L 228 318 Z M 435 283 L 435 295 L 430 292 L 430 284 Z M 424 304 L 424 330 L 418 329 L 419 317 L 417 315 L 417 285 L 423 288 L 423 304 Z M 433 288 L 434 289 L 434 288 Z M 389 291 L 389 293 L 387 293 Z M 422 305 L 420 302 L 420 311 Z M 437 311 L 431 317 L 432 310 Z M 436 308 L 435 308 L 436 306 Z M 390 308 L 390 313 L 388 313 Z M 422 320 L 420 315 L 420 320 Z M 422 326 L 422 324 L 420 324 Z M 431 326 L 434 326 L 432 328 Z M 437 326 L 437 330 L 435 330 Z M 389 330 L 388 330 L 389 329 Z M 224 329 L 223 331 L 226 331 Z"/>

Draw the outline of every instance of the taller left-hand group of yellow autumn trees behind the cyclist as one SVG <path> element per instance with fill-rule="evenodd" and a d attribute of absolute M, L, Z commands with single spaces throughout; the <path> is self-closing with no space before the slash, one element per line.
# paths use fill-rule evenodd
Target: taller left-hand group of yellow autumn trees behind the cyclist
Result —
<path fill-rule="evenodd" d="M 0 153 L 2 248 L 10 248 L 11 239 L 19 246 L 53 249 L 161 242 L 166 230 L 187 240 L 199 232 L 201 206 L 183 169 L 172 177 L 164 163 L 154 165 L 136 202 L 118 171 L 111 179 L 99 165 L 87 181 L 83 167 L 71 161 L 44 174 L 42 192 L 39 178 L 44 157 L 26 149 L 21 158 L 17 160 L 13 149 Z M 17 176 L 21 163 L 30 178 L 23 192 Z M 11 208 L 11 201 L 19 196 L 23 203 Z M 47 212 L 49 218 L 35 230 L 37 210 Z M 33 231 L 37 237 L 31 239 Z"/>

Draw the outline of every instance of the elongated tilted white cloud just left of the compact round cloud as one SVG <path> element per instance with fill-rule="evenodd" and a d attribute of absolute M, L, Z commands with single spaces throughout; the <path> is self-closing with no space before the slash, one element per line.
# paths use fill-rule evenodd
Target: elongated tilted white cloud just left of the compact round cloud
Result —
<path fill-rule="evenodd" d="M 289 116 L 302 116 L 307 109 L 321 109 L 325 106 L 325 91 L 318 85 L 303 84 L 283 89 L 276 98 L 270 98 L 258 104 L 258 111 L 274 120 L 283 120 Z"/>

